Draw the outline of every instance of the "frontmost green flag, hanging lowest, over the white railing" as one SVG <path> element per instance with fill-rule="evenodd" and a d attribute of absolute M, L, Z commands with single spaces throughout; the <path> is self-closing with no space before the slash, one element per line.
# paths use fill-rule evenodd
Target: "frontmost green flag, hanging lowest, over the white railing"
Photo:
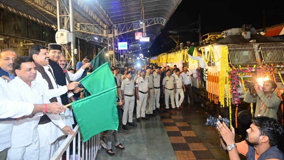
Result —
<path fill-rule="evenodd" d="M 83 142 L 105 130 L 118 129 L 116 87 L 72 102 Z"/>

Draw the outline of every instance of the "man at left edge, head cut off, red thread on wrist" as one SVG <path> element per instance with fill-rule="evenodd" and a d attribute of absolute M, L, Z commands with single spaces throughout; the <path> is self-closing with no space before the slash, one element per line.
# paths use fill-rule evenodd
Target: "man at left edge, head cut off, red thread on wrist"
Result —
<path fill-rule="evenodd" d="M 34 115 L 38 112 L 43 112 L 45 105 L 32 104 L 27 102 L 18 102 L 12 99 L 9 94 L 11 91 L 8 89 L 7 81 L 0 78 L 0 118 L 19 118 L 22 116 Z M 7 107 L 9 106 L 9 107 Z M 61 107 L 58 102 L 47 104 L 47 112 L 57 114 L 60 113 Z M 65 109 L 66 107 L 62 107 Z M 11 147 L 11 134 L 14 121 L 6 120 L 0 121 L 0 159 L 7 158 L 8 148 Z"/>

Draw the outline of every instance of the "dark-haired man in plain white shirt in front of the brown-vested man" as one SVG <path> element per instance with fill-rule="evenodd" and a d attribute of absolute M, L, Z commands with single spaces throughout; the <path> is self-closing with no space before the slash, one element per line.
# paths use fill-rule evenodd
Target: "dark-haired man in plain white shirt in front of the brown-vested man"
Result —
<path fill-rule="evenodd" d="M 13 91 L 16 100 L 47 105 L 50 102 L 43 87 L 34 81 L 37 71 L 33 61 L 28 56 L 19 57 L 14 61 L 13 70 L 17 77 L 8 83 L 8 87 Z M 64 125 L 60 115 L 49 113 L 47 115 L 56 125 Z M 37 126 L 41 116 L 43 116 L 42 113 L 37 113 L 22 117 L 17 120 L 17 123 L 14 123 L 11 136 L 12 144 L 8 149 L 7 159 L 39 159 Z M 68 134 L 74 134 L 69 126 L 64 125 L 62 130 Z"/>

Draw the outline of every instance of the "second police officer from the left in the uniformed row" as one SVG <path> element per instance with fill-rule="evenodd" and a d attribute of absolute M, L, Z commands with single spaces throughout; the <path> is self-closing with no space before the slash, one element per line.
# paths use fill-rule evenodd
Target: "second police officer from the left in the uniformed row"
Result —
<path fill-rule="evenodd" d="M 143 120 L 149 120 L 147 117 L 145 117 L 145 108 L 146 108 L 146 102 L 149 98 L 149 82 L 148 79 L 145 78 L 146 71 L 141 71 L 141 77 L 139 77 L 136 80 L 136 98 L 137 98 L 137 107 L 136 107 L 136 116 L 137 116 L 137 122 L 140 122 L 140 116 Z"/>

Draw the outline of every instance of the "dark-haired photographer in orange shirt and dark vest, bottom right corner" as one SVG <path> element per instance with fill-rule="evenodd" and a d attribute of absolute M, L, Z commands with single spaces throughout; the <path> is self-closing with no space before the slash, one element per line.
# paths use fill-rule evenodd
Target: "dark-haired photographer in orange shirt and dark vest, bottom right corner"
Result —
<path fill-rule="evenodd" d="M 221 118 L 221 116 L 219 116 Z M 221 149 L 229 152 L 230 160 L 240 159 L 239 154 L 249 160 L 283 160 L 283 153 L 277 148 L 283 129 L 274 118 L 258 116 L 253 118 L 247 137 L 244 141 L 235 143 L 235 129 L 232 131 L 225 123 L 217 122 L 216 128 L 220 133 Z M 226 150 L 224 149 L 226 148 Z"/>

